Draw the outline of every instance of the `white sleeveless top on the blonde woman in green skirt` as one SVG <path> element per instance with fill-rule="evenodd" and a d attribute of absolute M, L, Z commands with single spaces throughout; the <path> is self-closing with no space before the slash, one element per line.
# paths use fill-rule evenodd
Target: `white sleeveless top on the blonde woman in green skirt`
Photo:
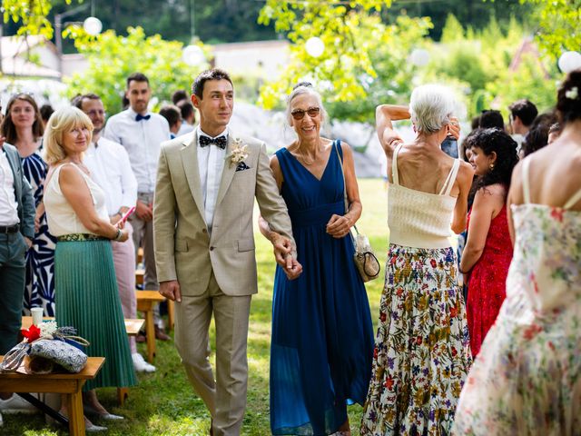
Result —
<path fill-rule="evenodd" d="M 44 187 L 44 208 L 46 209 L 46 221 L 48 223 L 48 231 L 54 236 L 63 236 L 71 233 L 91 233 L 81 223 L 79 217 L 74 213 L 71 204 L 64 198 L 61 186 L 58 182 L 61 168 L 69 163 L 59 165 L 54 169 L 51 180 L 48 185 Z M 103 220 L 109 220 L 107 207 L 105 206 L 105 193 L 97 183 L 94 183 L 87 174 L 85 174 L 74 163 L 70 163 L 76 168 L 84 178 L 84 182 L 89 188 L 91 197 L 93 198 L 94 208 Z"/>

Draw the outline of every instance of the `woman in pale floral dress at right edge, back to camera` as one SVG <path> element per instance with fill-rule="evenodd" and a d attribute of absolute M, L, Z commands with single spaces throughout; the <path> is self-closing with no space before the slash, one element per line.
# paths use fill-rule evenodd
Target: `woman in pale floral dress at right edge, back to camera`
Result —
<path fill-rule="evenodd" d="M 581 434 L 581 69 L 556 103 L 563 133 L 518 163 L 507 298 L 468 375 L 453 434 Z"/>

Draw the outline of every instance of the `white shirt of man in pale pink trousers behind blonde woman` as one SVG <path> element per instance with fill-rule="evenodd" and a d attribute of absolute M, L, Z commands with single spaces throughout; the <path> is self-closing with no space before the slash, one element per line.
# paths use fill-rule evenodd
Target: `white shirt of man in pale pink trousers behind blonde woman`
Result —
<path fill-rule="evenodd" d="M 137 180 L 131 170 L 129 156 L 120 144 L 106 138 L 91 143 L 84 154 L 84 164 L 91 178 L 103 189 L 109 215 L 123 206 L 132 207 L 137 202 Z"/>

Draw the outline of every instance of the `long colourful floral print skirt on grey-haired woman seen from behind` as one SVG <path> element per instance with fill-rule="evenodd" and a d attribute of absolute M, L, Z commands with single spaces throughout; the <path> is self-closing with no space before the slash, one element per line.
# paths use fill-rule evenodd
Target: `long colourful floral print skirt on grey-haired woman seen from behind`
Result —
<path fill-rule="evenodd" d="M 454 250 L 390 244 L 361 435 L 448 435 L 471 362 Z"/>

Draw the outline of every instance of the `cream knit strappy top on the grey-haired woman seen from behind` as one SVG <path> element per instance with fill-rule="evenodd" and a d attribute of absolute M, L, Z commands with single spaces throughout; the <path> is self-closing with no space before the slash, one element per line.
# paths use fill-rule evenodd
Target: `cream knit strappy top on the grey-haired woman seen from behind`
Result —
<path fill-rule="evenodd" d="M 456 159 L 440 193 L 424 193 L 399 184 L 399 144 L 393 154 L 389 183 L 388 224 L 389 243 L 415 248 L 446 248 L 450 246 L 448 236 L 456 197 L 450 191 L 460 161 Z"/>

